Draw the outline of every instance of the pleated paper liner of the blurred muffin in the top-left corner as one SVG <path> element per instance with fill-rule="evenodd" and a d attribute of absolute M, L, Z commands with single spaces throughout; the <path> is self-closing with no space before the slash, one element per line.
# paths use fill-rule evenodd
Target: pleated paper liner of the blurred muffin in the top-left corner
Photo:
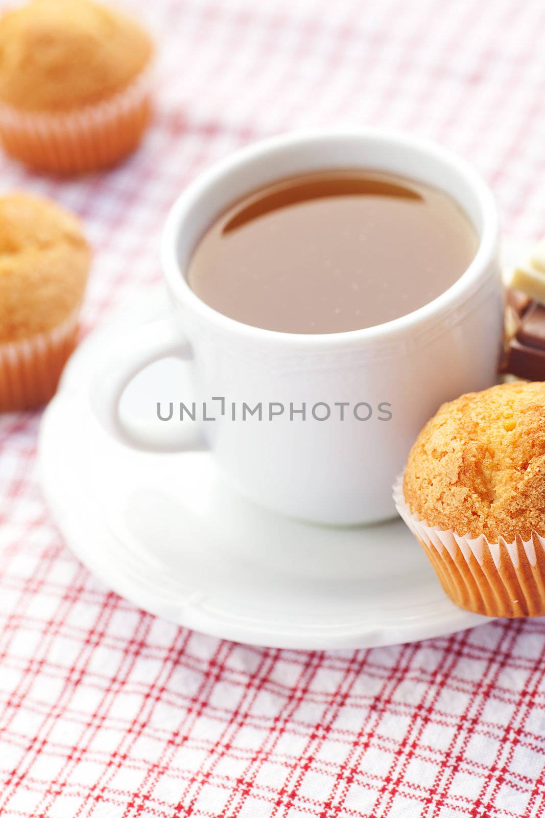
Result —
<path fill-rule="evenodd" d="M 108 167 L 134 151 L 151 116 L 151 69 L 108 100 L 60 114 L 0 104 L 4 151 L 50 173 L 85 173 Z"/>

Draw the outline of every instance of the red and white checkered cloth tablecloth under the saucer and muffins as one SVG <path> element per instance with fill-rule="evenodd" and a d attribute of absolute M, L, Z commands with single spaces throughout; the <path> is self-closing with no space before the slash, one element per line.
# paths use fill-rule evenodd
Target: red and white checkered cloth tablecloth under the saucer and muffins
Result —
<path fill-rule="evenodd" d="M 2 0 L 4 2 L 4 0 Z M 159 110 L 123 167 L 77 181 L 1 160 L 96 251 L 92 328 L 159 280 L 159 231 L 200 169 L 286 128 L 432 137 L 545 232 L 543 0 L 154 0 Z M 235 645 L 119 599 L 42 501 L 38 414 L 0 419 L 0 815 L 454 818 L 545 814 L 545 623 L 416 645 Z"/>

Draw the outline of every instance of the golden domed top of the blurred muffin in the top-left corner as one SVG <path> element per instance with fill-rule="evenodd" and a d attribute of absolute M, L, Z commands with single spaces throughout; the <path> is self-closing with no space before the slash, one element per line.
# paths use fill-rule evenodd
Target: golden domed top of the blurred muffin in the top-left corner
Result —
<path fill-rule="evenodd" d="M 150 38 L 90 0 L 31 0 L 0 19 L 0 101 L 56 113 L 112 97 L 149 63 Z"/>

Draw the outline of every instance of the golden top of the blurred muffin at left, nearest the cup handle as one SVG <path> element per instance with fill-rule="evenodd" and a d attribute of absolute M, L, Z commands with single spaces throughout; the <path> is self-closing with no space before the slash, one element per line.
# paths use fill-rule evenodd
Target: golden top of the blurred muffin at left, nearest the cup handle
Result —
<path fill-rule="evenodd" d="M 27 193 L 0 196 L 0 343 L 65 321 L 83 299 L 90 264 L 78 218 Z"/>

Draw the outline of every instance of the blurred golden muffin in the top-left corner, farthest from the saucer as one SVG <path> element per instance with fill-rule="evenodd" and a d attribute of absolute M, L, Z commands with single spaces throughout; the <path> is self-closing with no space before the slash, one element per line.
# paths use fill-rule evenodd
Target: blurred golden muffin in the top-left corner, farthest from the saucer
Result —
<path fill-rule="evenodd" d="M 90 0 L 32 0 L 0 19 L 0 139 L 53 173 L 104 168 L 150 120 L 152 46 L 127 17 Z"/>

